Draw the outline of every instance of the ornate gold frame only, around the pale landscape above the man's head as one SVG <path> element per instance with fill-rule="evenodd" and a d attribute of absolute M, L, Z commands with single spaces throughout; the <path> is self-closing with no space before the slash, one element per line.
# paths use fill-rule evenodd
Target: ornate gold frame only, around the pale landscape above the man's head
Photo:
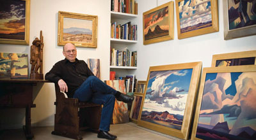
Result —
<path fill-rule="evenodd" d="M 84 43 L 79 41 L 63 41 L 63 18 L 76 18 L 81 20 L 92 20 L 92 43 Z M 66 11 L 58 12 L 58 45 L 65 45 L 66 43 L 74 43 L 76 46 L 97 48 L 97 15 L 84 15 L 80 13 L 70 13 Z"/>

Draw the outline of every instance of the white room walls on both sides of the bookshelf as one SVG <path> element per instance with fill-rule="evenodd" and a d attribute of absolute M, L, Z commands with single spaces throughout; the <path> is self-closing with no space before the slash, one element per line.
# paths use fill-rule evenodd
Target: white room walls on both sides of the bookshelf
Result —
<path fill-rule="evenodd" d="M 138 50 L 138 69 L 135 71 L 138 80 L 147 80 L 150 66 L 202 61 L 203 67 L 210 67 L 214 54 L 256 50 L 256 36 L 224 40 L 222 1 L 218 1 L 219 32 L 179 40 L 177 39 L 176 11 L 174 11 L 175 38 L 170 41 L 143 45 L 143 12 L 168 1 L 137 1 L 139 17 L 134 19 L 132 23 L 138 24 L 138 43 L 132 45 L 132 50 Z M 61 46 L 57 45 L 58 11 L 98 15 L 98 48 L 77 48 L 77 58 L 83 60 L 99 58 L 101 78 L 108 80 L 110 4 L 110 1 L 107 0 L 31 0 L 29 45 L 0 45 L 0 52 L 29 53 L 31 42 L 39 37 L 42 30 L 45 43 L 43 70 L 45 74 L 55 62 L 64 58 Z M 55 94 L 53 83 L 45 83 L 35 88 L 34 97 L 36 108 L 31 110 L 32 125 L 54 125 Z M 0 129 L 21 127 L 21 124 L 24 124 L 24 109 L 3 109 L 0 110 L 0 114 Z"/>

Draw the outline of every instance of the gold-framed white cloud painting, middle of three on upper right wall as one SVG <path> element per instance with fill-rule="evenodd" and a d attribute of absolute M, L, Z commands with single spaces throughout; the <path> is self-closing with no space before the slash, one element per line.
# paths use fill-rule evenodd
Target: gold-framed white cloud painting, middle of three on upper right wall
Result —
<path fill-rule="evenodd" d="M 178 38 L 219 31 L 217 0 L 176 0 Z"/>

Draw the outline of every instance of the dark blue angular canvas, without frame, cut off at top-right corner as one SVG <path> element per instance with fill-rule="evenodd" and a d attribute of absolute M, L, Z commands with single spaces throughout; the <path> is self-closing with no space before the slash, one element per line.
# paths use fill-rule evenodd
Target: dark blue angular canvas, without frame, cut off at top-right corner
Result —
<path fill-rule="evenodd" d="M 256 1 L 228 0 L 229 30 L 256 24 Z"/>

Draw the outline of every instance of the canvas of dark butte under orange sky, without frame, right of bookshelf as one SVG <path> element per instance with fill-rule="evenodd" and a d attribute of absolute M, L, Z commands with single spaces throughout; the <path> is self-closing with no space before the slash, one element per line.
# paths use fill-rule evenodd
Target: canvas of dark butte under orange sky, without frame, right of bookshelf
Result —
<path fill-rule="evenodd" d="M 169 35 L 168 6 L 144 15 L 145 41 Z"/>

